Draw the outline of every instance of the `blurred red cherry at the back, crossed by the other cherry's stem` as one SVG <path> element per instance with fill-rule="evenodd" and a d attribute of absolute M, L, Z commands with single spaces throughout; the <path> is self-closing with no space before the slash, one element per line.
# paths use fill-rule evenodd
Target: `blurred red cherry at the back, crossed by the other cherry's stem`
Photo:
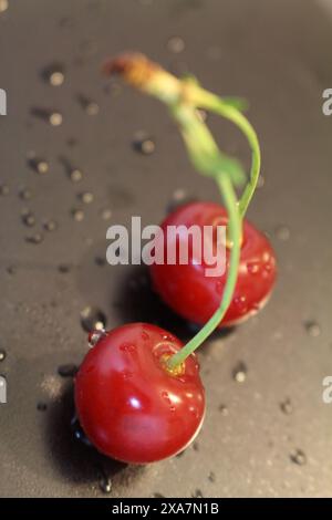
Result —
<path fill-rule="evenodd" d="M 166 258 L 167 247 L 179 243 L 179 238 L 167 238 L 167 226 L 226 226 L 227 212 L 225 208 L 215 202 L 190 202 L 181 206 L 169 215 L 162 223 L 164 237 L 158 247 L 164 247 Z M 158 240 L 158 238 L 157 238 Z M 169 241 L 168 241 L 169 240 Z M 197 264 L 193 258 L 193 247 L 189 242 L 189 261 L 180 264 L 178 253 L 174 264 L 153 263 L 151 274 L 155 290 L 162 300 L 175 312 L 190 322 L 205 324 L 220 305 L 230 250 L 226 250 L 226 272 L 222 275 L 206 275 L 204 260 Z M 264 235 L 259 232 L 247 220 L 243 221 L 243 237 L 241 243 L 240 266 L 238 280 L 230 306 L 228 308 L 221 326 L 231 326 L 245 321 L 257 313 L 271 294 L 276 280 L 276 257 Z"/>

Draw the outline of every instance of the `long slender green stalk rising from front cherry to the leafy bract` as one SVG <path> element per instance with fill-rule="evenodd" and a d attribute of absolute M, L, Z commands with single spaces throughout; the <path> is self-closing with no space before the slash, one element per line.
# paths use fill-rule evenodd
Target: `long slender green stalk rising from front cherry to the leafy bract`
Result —
<path fill-rule="evenodd" d="M 214 332 L 225 316 L 225 313 L 231 302 L 234 290 L 238 277 L 239 259 L 240 259 L 240 240 L 241 240 L 241 217 L 239 214 L 236 194 L 227 174 L 220 173 L 216 176 L 216 181 L 224 197 L 225 206 L 228 212 L 229 238 L 232 242 L 229 269 L 222 300 L 220 306 L 215 314 L 204 325 L 204 327 L 176 354 L 168 360 L 168 367 L 174 370 L 180 365 L 198 346 Z"/>

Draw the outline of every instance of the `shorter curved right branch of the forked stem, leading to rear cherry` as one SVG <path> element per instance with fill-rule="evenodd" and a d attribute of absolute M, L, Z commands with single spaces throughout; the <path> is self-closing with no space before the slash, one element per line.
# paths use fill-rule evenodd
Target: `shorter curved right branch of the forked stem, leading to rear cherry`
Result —
<path fill-rule="evenodd" d="M 251 148 L 250 177 L 245 188 L 245 191 L 239 200 L 240 216 L 241 218 L 243 218 L 247 212 L 250 200 L 253 196 L 260 174 L 261 154 L 259 141 L 253 127 L 251 126 L 247 117 L 241 114 L 241 112 L 230 105 L 227 105 L 227 103 L 224 103 L 222 100 L 218 96 L 210 95 L 208 97 L 206 96 L 205 100 L 207 102 L 204 103 L 203 108 L 208 108 L 231 121 L 236 126 L 238 126 L 242 131 Z"/>

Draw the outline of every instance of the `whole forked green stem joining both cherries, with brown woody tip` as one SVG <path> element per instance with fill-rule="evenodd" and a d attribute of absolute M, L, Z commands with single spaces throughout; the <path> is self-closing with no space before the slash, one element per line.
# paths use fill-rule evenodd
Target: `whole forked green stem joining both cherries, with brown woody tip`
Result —
<path fill-rule="evenodd" d="M 174 371 L 214 332 L 231 303 L 239 269 L 242 218 L 255 193 L 260 171 L 259 142 L 255 129 L 240 112 L 245 107 L 243 100 L 219 97 L 203 89 L 194 77 L 178 80 L 143 54 L 123 54 L 106 63 L 104 71 L 121 73 L 131 85 L 166 103 L 179 126 L 191 163 L 200 174 L 216 180 L 228 212 L 228 239 L 231 250 L 221 303 L 204 327 L 168 358 L 167 367 Z M 247 137 L 251 148 L 251 169 L 239 201 L 234 186 L 241 185 L 245 180 L 243 168 L 219 149 L 197 108 L 207 108 L 226 117 Z"/>

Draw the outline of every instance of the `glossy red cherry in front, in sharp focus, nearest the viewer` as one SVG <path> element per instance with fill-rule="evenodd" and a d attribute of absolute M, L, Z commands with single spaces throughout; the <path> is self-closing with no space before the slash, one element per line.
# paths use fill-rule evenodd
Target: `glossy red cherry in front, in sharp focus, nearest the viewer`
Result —
<path fill-rule="evenodd" d="M 205 391 L 193 354 L 169 372 L 183 346 L 158 326 L 132 323 L 102 334 L 75 377 L 75 405 L 89 440 L 131 464 L 165 459 L 198 434 Z"/>

